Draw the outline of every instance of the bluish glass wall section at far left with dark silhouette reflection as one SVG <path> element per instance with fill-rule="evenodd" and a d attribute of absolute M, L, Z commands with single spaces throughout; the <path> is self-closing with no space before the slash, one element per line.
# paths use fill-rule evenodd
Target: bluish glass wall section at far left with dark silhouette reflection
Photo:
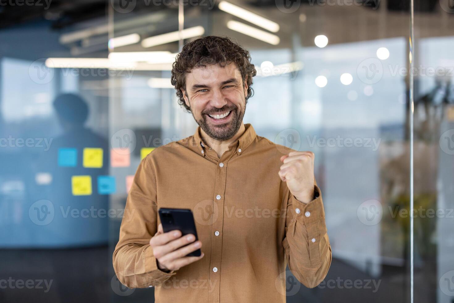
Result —
<path fill-rule="evenodd" d="M 111 266 L 112 214 L 101 186 L 109 180 L 109 98 L 92 87 L 107 82 L 109 70 L 55 58 L 108 51 L 79 54 L 67 31 L 81 24 L 5 26 L 11 8 L 0 9 L 0 301 L 103 302 Z M 22 8 L 24 17 L 35 9 Z"/>

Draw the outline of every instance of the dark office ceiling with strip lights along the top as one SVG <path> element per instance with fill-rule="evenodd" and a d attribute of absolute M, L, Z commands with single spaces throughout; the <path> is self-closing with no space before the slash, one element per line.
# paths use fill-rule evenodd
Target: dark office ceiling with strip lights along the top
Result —
<path fill-rule="evenodd" d="M 112 3 L 123 5 L 133 1 L 134 10 L 127 14 L 114 10 Z M 0 5 L 0 30 L 44 20 L 50 29 L 60 34 L 60 43 L 71 50 L 73 56 L 91 55 L 107 51 L 107 42 L 114 36 L 138 33 L 141 38 L 160 35 L 178 30 L 177 0 L 167 1 L 170 5 L 153 5 L 153 0 L 3 0 Z M 194 3 L 196 0 L 191 0 Z M 203 3 L 219 4 L 221 0 L 197 0 Z M 227 28 L 228 20 L 238 20 L 215 5 L 209 18 L 203 14 L 207 6 L 185 5 L 185 28 L 203 25 L 205 35 L 234 36 L 240 43 L 248 47 L 291 47 L 295 42 L 295 34 L 299 35 L 301 45 L 313 45 L 316 35 L 326 35 L 330 44 L 348 43 L 364 40 L 406 37 L 409 33 L 410 0 L 228 0 L 275 21 L 281 26 L 276 35 L 281 39 L 279 45 L 268 45 L 263 41 L 251 39 L 247 35 L 238 34 Z M 286 14 L 276 9 L 276 6 L 291 6 L 300 3 L 298 10 Z M 293 1 L 293 2 L 287 2 Z M 314 5 L 319 3 L 319 5 Z M 324 2 L 323 2 L 324 1 Z M 362 1 L 367 5 L 332 5 L 343 1 Z M 34 3 L 34 5 L 19 5 Z M 188 3 L 188 0 L 186 0 Z M 320 5 L 331 3 L 331 5 Z M 345 2 L 347 3 L 347 2 Z M 377 6 L 374 6 L 374 4 Z M 4 5 L 6 4 L 6 5 Z M 117 6 L 115 6 L 117 7 Z M 199 8 L 201 8 L 199 10 Z M 439 0 L 415 0 L 415 29 L 418 37 L 452 35 L 454 14 L 448 14 L 439 6 Z M 110 12 L 110 14 L 109 14 Z M 206 12 L 206 11 L 205 11 Z M 114 16 L 113 31 L 107 29 L 109 16 Z M 307 18 L 306 18 L 307 17 Z M 302 19 L 304 19 L 302 21 Z M 112 19 L 110 19 L 112 20 Z M 341 25 L 341 26 L 339 26 Z M 109 36 L 110 35 L 110 36 Z M 148 50 L 178 51 L 178 43 L 156 46 Z M 139 45 L 124 46 L 121 51 L 138 51 Z"/>

